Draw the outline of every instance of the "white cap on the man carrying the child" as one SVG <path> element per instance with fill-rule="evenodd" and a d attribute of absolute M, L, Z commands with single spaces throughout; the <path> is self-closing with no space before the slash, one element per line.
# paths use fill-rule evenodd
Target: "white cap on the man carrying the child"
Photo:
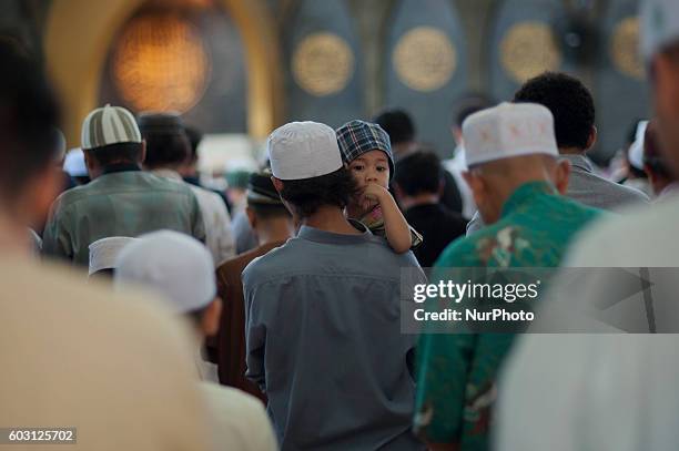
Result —
<path fill-rule="evenodd" d="M 291 122 L 268 136 L 266 151 L 274 177 L 318 177 L 343 166 L 335 131 L 317 122 Z"/>

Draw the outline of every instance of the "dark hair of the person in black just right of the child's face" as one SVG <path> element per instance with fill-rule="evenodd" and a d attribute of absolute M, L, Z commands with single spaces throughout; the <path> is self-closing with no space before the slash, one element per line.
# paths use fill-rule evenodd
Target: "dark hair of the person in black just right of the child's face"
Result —
<path fill-rule="evenodd" d="M 394 183 L 408 196 L 436 194 L 443 180 L 440 160 L 432 151 L 418 150 L 396 162 Z"/>

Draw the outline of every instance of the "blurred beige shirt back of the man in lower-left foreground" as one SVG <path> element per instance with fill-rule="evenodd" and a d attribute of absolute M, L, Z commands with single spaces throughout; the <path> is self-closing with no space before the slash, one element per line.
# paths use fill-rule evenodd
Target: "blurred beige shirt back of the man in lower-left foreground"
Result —
<path fill-rule="evenodd" d="M 160 304 L 16 257 L 0 283 L 0 424 L 75 427 L 83 450 L 207 449 L 188 334 Z"/>

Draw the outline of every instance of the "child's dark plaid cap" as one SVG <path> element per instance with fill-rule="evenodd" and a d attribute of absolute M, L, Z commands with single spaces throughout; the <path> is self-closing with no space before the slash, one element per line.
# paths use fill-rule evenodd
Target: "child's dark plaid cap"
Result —
<path fill-rule="evenodd" d="M 394 155 L 389 135 L 377 124 L 354 120 L 336 130 L 337 143 L 344 163 L 351 163 L 362 154 L 382 151 L 387 154 L 389 180 L 394 176 Z"/>

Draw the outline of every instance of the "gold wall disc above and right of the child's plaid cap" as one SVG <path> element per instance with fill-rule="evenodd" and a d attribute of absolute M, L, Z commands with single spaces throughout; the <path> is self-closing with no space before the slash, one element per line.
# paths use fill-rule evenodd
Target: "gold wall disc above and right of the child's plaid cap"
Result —
<path fill-rule="evenodd" d="M 457 52 L 443 31 L 416 27 L 398 40 L 392 62 L 403 84 L 415 91 L 430 92 L 450 81 L 457 65 Z"/>

